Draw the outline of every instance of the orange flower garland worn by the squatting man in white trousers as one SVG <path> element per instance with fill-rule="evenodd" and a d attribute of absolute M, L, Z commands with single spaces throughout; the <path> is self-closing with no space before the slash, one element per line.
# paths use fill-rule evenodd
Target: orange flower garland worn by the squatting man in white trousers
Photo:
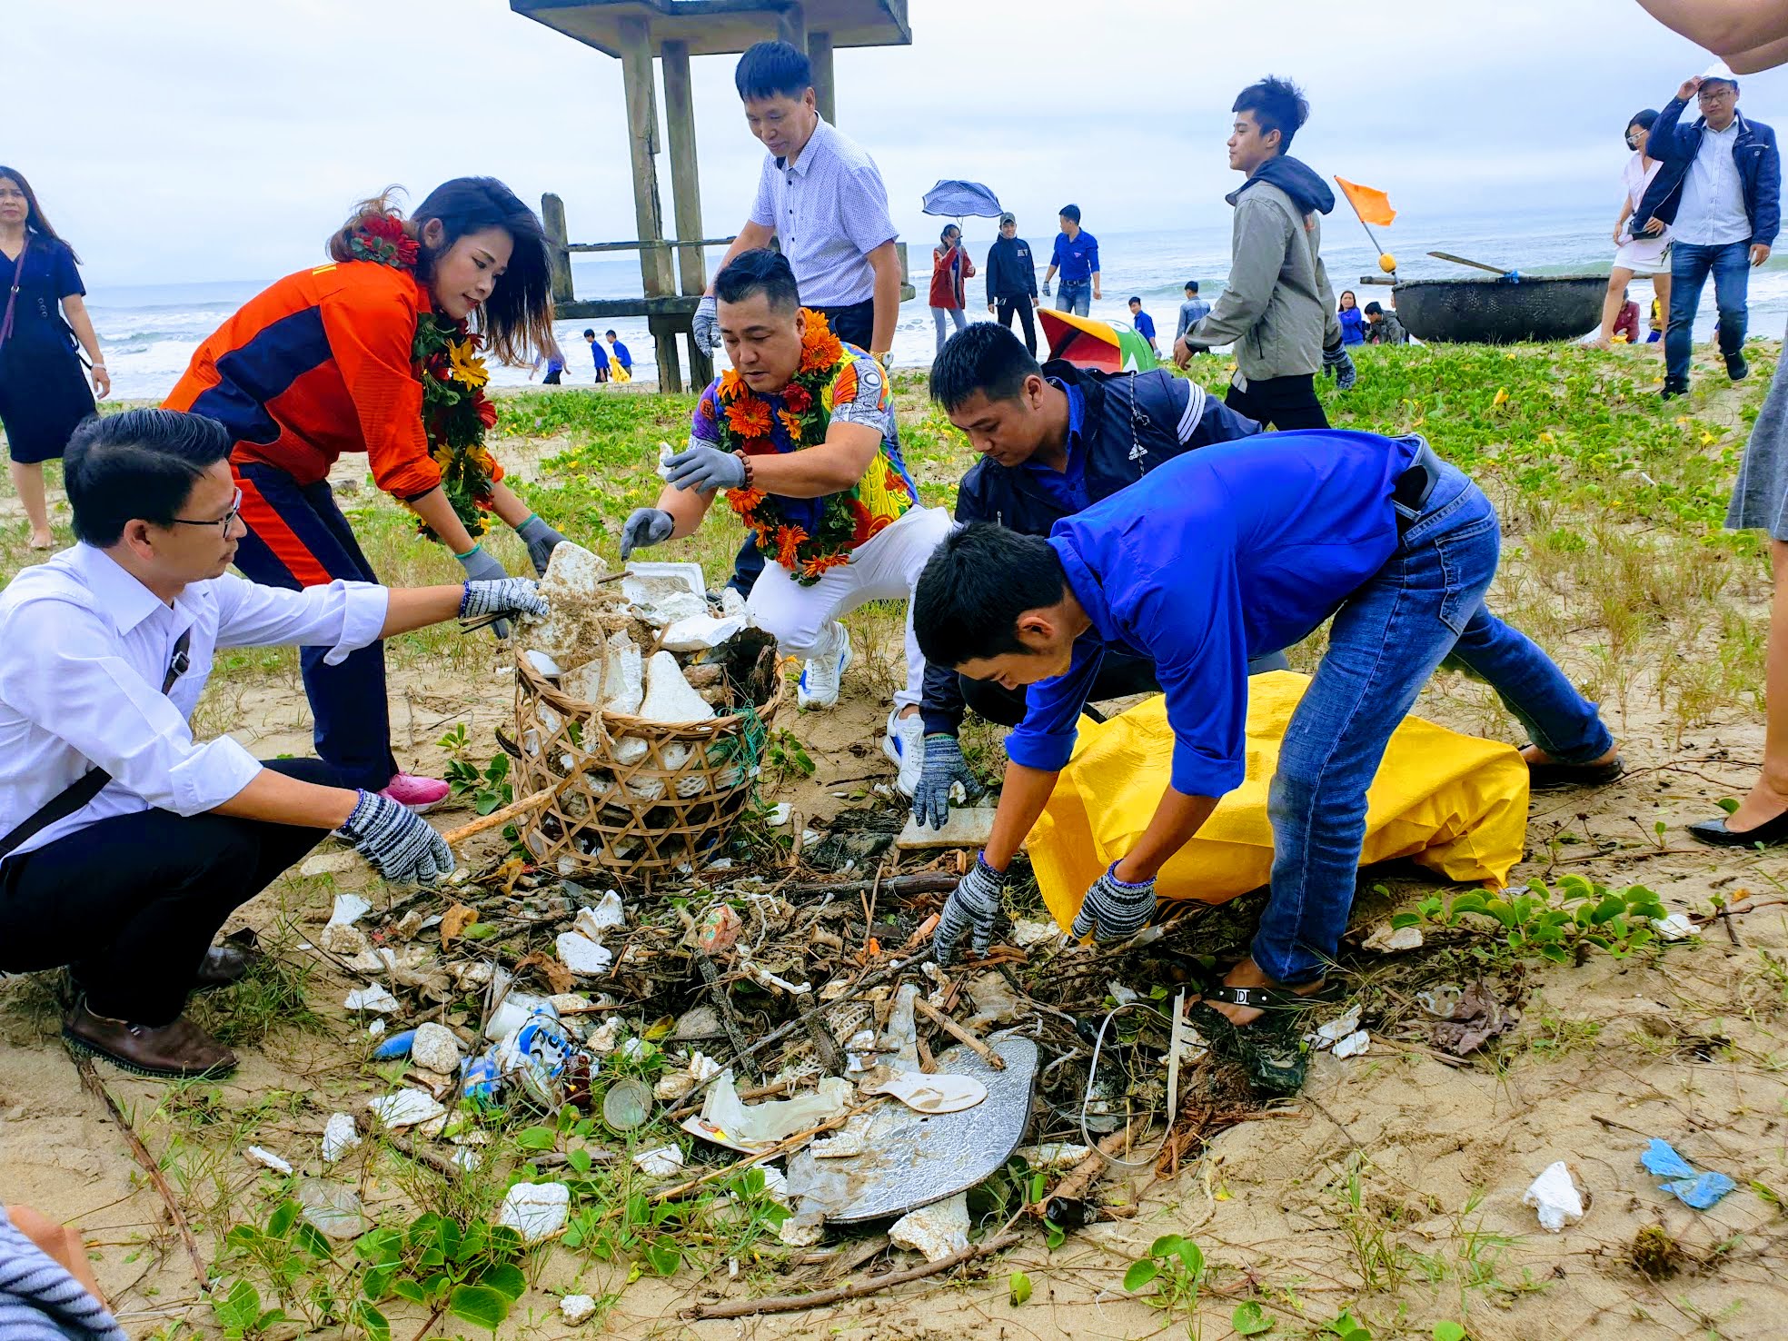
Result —
<path fill-rule="evenodd" d="M 824 393 L 844 367 L 846 354 L 824 316 L 806 308 L 801 309 L 801 316 L 805 320 L 801 365 L 781 390 L 783 409 L 772 409 L 769 401 L 753 395 L 746 379 L 731 368 L 721 374 L 715 418 L 726 451 L 746 456 L 774 452 L 776 443 L 771 440 L 774 420 L 781 420 L 796 447 L 824 442 L 831 424 Z M 817 535 L 792 526 L 776 499 L 762 488 L 728 490 L 726 502 L 738 513 L 738 520 L 751 527 L 758 552 L 789 569 L 803 586 L 817 583 L 826 569 L 849 563 L 851 547 L 864 540 L 858 535 L 860 526 L 849 492 L 826 499 Z"/>

